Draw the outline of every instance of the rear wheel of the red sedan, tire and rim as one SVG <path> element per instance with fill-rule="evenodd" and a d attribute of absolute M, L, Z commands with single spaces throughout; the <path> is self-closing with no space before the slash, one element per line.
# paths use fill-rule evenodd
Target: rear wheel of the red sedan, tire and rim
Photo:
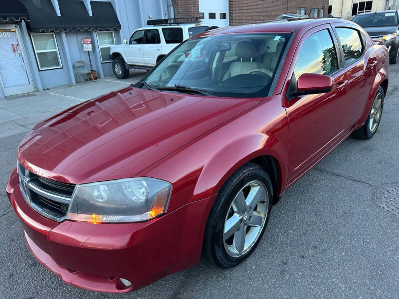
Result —
<path fill-rule="evenodd" d="M 380 86 L 374 97 L 369 116 L 364 125 L 353 133 L 357 139 L 370 139 L 376 134 L 384 108 L 384 89 Z"/>

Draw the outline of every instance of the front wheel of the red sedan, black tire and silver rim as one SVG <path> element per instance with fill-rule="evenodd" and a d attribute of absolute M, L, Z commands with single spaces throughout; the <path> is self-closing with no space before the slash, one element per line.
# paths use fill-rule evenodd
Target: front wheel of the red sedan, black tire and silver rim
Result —
<path fill-rule="evenodd" d="M 202 253 L 219 268 L 235 267 L 256 248 L 266 228 L 273 188 L 267 172 L 248 162 L 220 189 L 205 227 Z"/>

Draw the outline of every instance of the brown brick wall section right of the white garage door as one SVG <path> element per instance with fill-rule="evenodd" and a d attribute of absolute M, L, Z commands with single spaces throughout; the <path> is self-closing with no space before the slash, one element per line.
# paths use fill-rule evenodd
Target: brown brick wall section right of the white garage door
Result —
<path fill-rule="evenodd" d="M 306 14 L 311 8 L 324 8 L 327 17 L 328 0 L 228 0 L 228 20 L 230 25 L 271 20 L 282 13 L 296 13 L 298 7 L 306 7 Z"/>

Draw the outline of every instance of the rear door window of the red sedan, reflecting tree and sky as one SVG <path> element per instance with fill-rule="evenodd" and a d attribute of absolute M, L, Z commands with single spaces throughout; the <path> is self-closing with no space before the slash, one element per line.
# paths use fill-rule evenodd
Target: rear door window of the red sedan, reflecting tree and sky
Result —
<path fill-rule="evenodd" d="M 352 28 L 335 28 L 344 50 L 345 65 L 348 65 L 362 55 L 363 45 L 359 31 Z"/>

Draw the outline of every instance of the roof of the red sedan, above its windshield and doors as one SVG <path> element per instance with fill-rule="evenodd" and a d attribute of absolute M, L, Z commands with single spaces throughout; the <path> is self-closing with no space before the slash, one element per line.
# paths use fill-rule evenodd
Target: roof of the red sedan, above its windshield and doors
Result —
<path fill-rule="evenodd" d="M 231 33 L 263 33 L 263 32 L 276 32 L 276 33 L 292 33 L 297 28 L 307 26 L 309 28 L 327 23 L 352 23 L 351 21 L 335 18 L 296 18 L 296 19 L 280 19 L 272 20 L 262 23 L 244 24 L 238 26 L 230 26 L 219 29 L 205 31 L 196 35 L 210 36 L 216 34 L 231 34 Z"/>

